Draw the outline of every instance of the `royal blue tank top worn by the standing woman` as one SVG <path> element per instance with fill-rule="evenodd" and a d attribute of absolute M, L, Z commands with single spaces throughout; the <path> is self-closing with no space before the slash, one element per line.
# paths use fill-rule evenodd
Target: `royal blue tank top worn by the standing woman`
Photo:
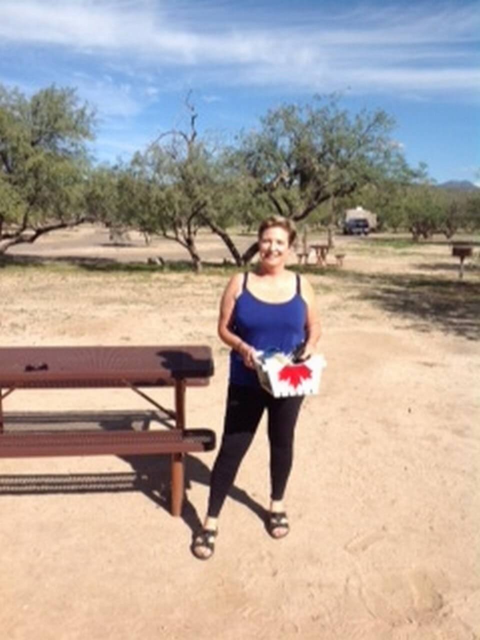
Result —
<path fill-rule="evenodd" d="M 230 329 L 246 344 L 259 351 L 291 351 L 305 340 L 307 305 L 300 294 L 300 276 L 296 276 L 296 292 L 287 302 L 264 302 L 247 289 L 248 273 L 238 296 Z M 241 355 L 230 351 L 230 383 L 259 387 L 257 374 L 243 364 Z"/>

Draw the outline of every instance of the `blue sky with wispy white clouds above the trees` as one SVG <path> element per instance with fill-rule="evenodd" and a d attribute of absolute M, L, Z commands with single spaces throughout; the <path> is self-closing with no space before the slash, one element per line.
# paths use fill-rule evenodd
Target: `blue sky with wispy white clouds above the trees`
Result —
<path fill-rule="evenodd" d="M 188 128 L 188 95 L 200 134 L 230 143 L 335 92 L 392 115 L 412 166 L 480 184 L 479 40 L 478 0 L 0 0 L 0 83 L 75 87 L 109 163 Z"/>

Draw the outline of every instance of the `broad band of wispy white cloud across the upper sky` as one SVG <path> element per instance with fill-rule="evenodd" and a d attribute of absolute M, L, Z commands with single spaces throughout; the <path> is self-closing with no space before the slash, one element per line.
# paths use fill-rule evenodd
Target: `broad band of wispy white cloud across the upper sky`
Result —
<path fill-rule="evenodd" d="M 150 74 L 141 90 L 150 98 L 158 92 L 155 77 L 172 68 L 180 85 L 193 73 L 227 86 L 473 93 L 480 86 L 470 49 L 480 26 L 478 7 L 358 4 L 350 15 L 339 10 L 328 20 L 314 9 L 266 12 L 262 3 L 250 5 L 248 14 L 233 3 L 3 0 L 0 38 L 95 56 L 104 68 L 124 67 L 132 76 Z M 137 99 L 128 91 L 104 83 L 90 93 L 108 103 L 117 92 L 121 109 L 135 109 Z"/>

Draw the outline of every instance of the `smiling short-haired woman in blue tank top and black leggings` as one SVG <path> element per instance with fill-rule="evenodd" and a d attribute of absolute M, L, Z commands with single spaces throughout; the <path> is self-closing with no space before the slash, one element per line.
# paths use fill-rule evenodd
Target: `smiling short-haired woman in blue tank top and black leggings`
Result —
<path fill-rule="evenodd" d="M 283 498 L 292 467 L 293 436 L 303 397 L 275 398 L 260 387 L 254 370 L 256 350 L 312 355 L 320 337 L 314 291 L 303 276 L 285 269 L 296 232 L 290 220 L 272 216 L 259 227 L 259 262 L 252 273 L 238 273 L 223 292 L 218 335 L 231 349 L 224 433 L 212 469 L 207 516 L 195 534 L 192 552 L 208 559 L 214 552 L 218 516 L 243 456 L 266 409 L 270 445 L 271 502 L 267 530 L 273 538 L 289 532 Z"/>

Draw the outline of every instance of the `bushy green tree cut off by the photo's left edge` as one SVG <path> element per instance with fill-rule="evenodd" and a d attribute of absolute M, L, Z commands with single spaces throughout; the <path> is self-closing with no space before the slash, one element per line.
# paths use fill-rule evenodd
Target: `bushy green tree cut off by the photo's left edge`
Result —
<path fill-rule="evenodd" d="M 93 111 L 72 89 L 0 85 L 0 253 L 83 220 Z"/>

